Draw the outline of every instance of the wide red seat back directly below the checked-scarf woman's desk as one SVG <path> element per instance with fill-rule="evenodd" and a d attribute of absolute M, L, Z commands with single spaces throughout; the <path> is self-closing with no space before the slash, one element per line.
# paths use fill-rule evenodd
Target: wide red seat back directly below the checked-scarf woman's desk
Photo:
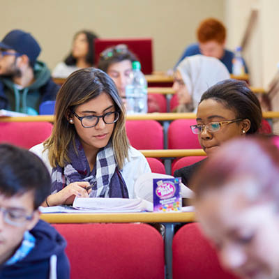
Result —
<path fill-rule="evenodd" d="M 70 278 L 163 279 L 164 245 L 146 224 L 55 224 L 65 237 Z"/>

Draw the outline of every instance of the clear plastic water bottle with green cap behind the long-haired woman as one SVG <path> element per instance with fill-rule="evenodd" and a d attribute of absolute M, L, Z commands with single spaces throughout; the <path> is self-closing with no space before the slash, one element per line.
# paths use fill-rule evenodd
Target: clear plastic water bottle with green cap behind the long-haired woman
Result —
<path fill-rule="evenodd" d="M 144 114 L 147 113 L 147 82 L 140 62 L 133 62 L 132 67 L 130 84 L 126 86 L 126 111 L 127 114 Z"/>

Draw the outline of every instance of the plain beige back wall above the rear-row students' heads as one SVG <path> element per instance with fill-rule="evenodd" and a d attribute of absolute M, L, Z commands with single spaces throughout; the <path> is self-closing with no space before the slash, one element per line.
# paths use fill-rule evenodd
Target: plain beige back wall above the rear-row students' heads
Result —
<path fill-rule="evenodd" d="M 68 54 L 73 34 L 86 28 L 101 37 L 152 37 L 154 68 L 167 70 L 195 42 L 200 20 L 224 20 L 224 0 L 2 0 L 1 10 L 0 38 L 10 29 L 30 31 L 50 68 Z"/>

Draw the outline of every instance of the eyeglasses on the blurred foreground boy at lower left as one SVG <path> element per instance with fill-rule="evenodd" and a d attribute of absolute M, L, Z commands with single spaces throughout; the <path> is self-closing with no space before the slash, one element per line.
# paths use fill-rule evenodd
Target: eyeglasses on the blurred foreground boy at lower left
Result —
<path fill-rule="evenodd" d="M 3 212 L 3 220 L 5 223 L 15 227 L 22 227 L 24 223 L 33 219 L 33 213 L 27 216 L 17 209 L 4 209 L 0 207 L 0 211 Z"/>

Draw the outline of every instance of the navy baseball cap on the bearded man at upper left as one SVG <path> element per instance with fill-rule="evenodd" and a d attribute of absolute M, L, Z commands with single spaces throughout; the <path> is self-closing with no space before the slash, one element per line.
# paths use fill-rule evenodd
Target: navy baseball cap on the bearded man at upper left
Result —
<path fill-rule="evenodd" d="M 31 33 L 18 29 L 10 31 L 0 42 L 0 47 L 15 50 L 19 54 L 26 54 L 32 64 L 36 62 L 40 54 L 40 45 L 31 36 Z"/>

